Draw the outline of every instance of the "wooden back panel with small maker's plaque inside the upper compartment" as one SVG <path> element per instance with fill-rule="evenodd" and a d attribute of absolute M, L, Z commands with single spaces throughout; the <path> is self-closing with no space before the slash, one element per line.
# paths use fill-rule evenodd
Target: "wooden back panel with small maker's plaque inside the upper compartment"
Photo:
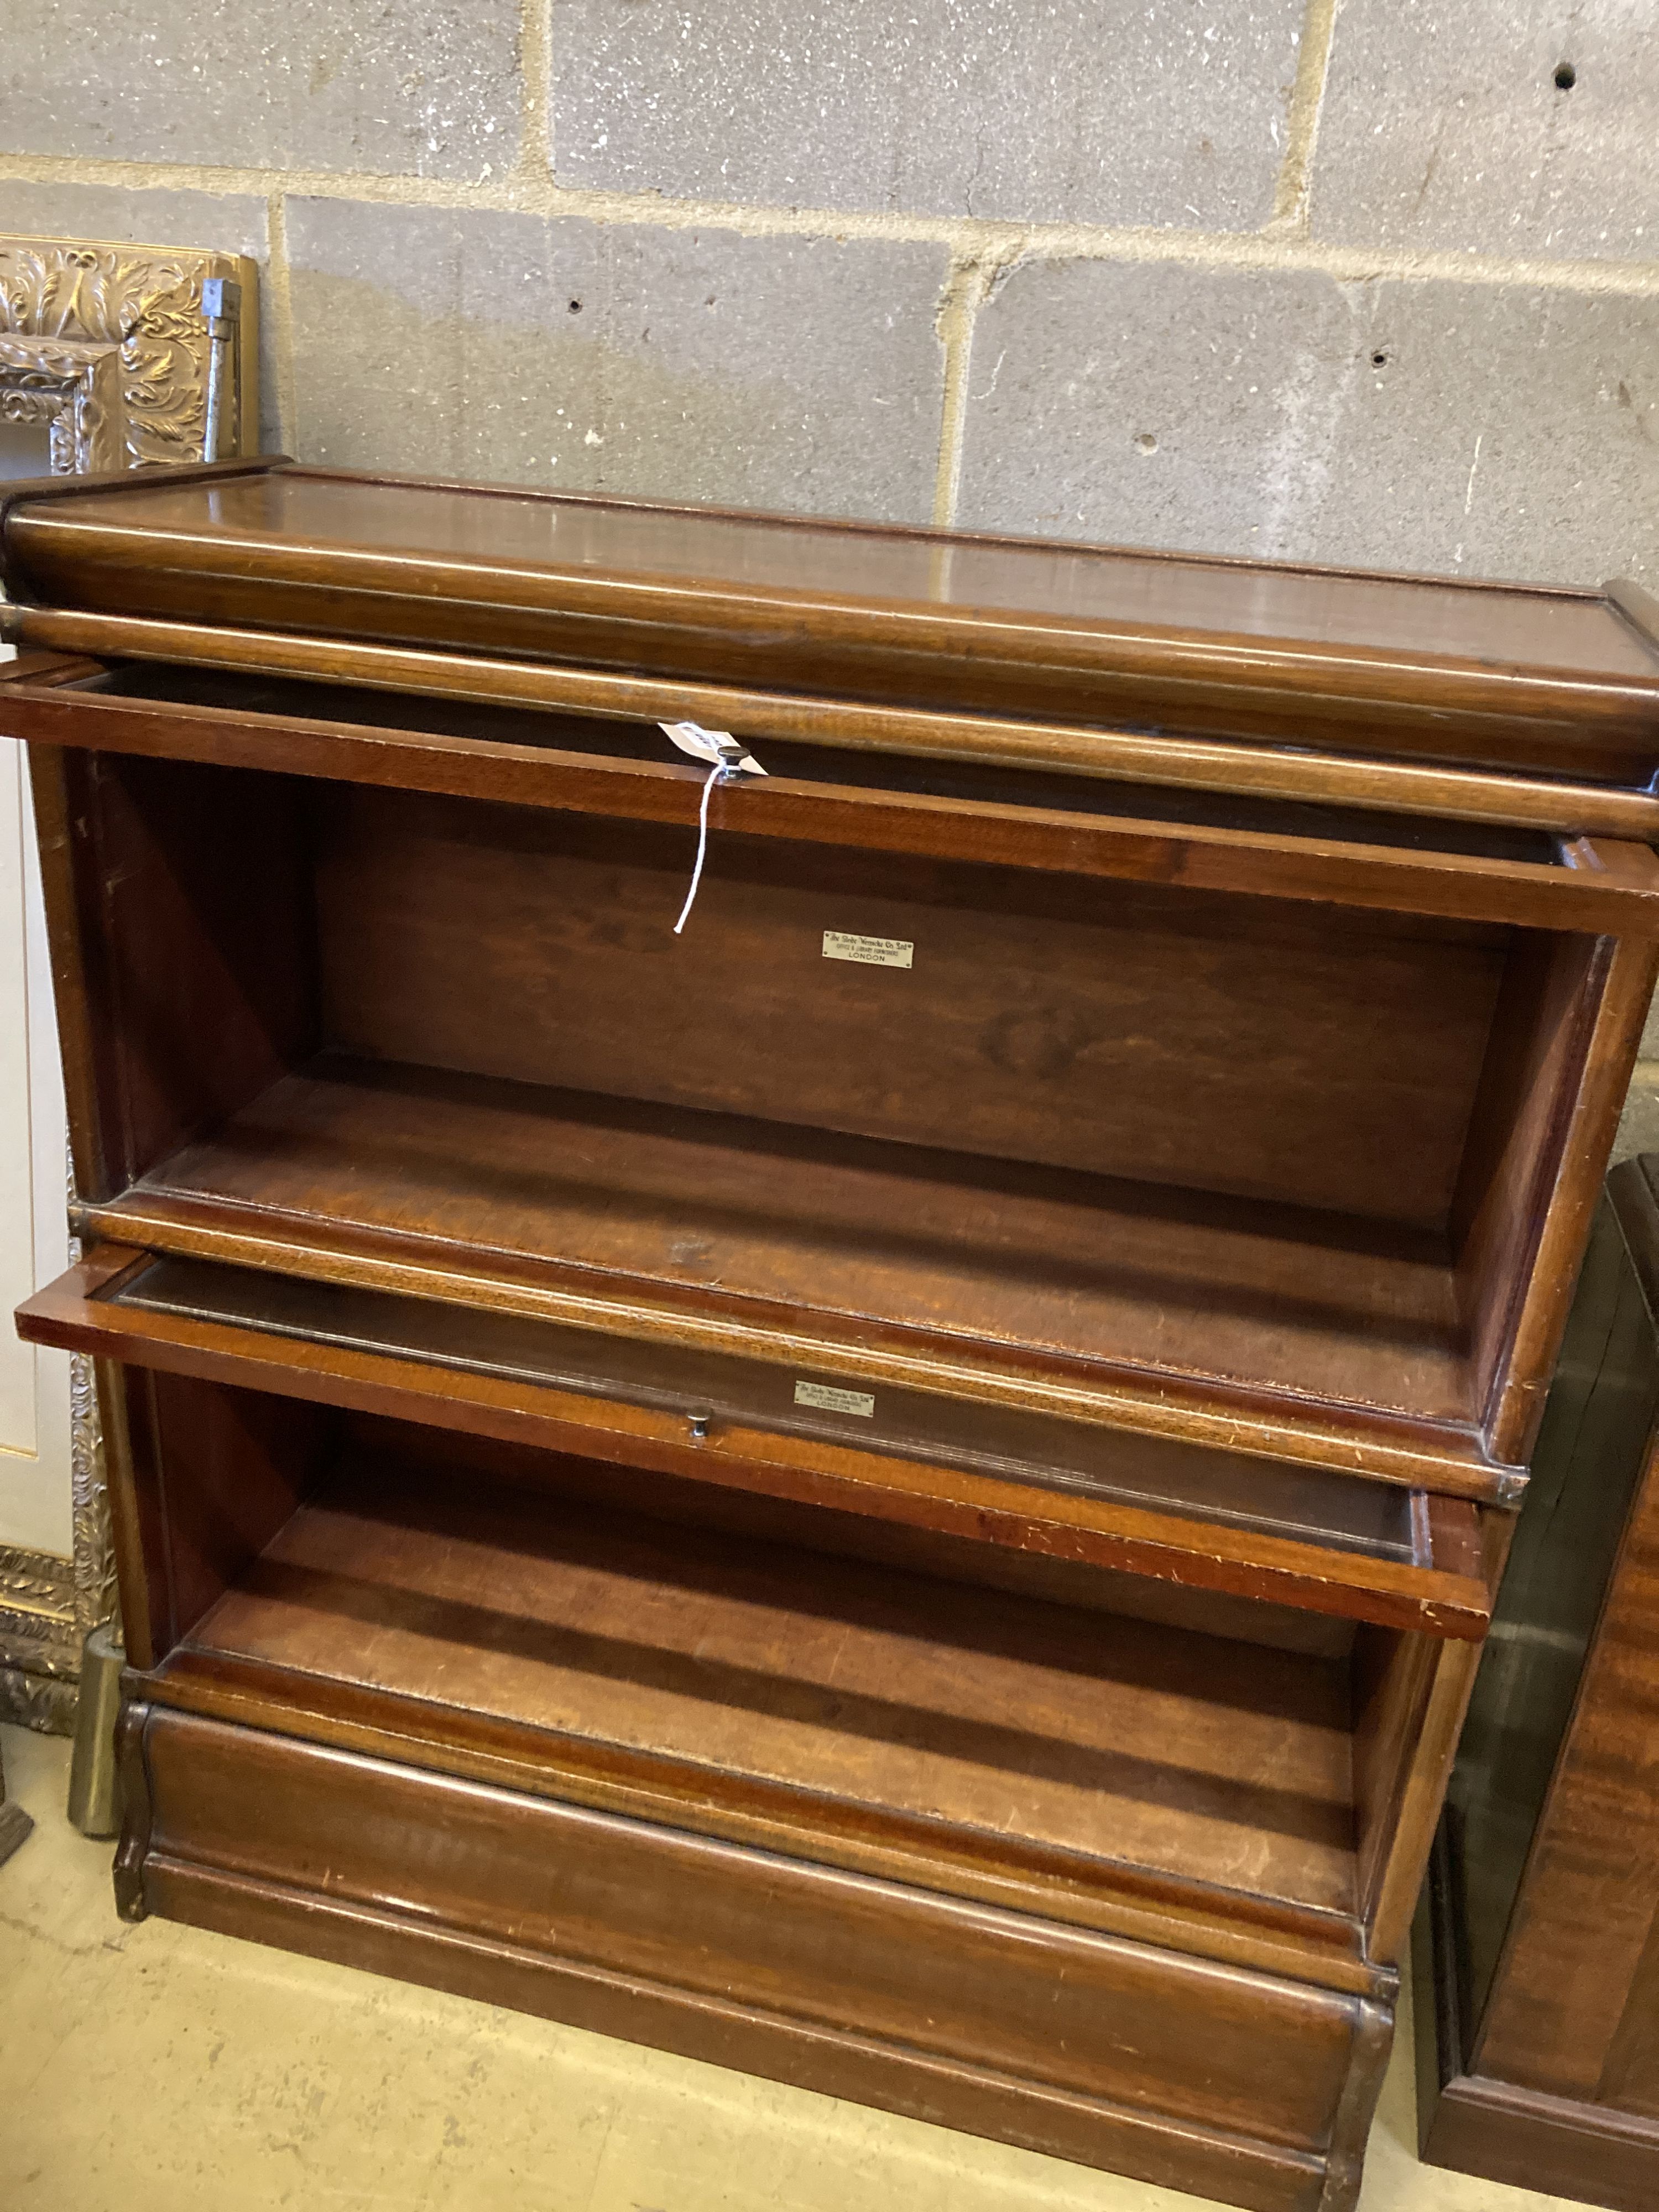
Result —
<path fill-rule="evenodd" d="M 327 1042 L 1438 1230 L 1502 945 L 1400 916 L 343 790 Z M 827 931 L 914 947 L 827 960 Z"/>

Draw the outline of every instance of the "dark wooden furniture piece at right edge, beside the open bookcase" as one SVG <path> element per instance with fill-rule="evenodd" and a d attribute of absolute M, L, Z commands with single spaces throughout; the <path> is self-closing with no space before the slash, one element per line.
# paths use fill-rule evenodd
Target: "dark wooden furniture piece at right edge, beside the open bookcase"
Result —
<path fill-rule="evenodd" d="M 1608 1177 L 1420 1916 L 1422 2154 L 1659 2203 L 1659 1157 Z"/>

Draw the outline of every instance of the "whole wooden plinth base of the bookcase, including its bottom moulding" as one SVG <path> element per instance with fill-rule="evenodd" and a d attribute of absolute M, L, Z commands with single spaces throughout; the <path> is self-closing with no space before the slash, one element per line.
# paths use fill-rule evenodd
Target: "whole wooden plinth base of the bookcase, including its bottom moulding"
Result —
<path fill-rule="evenodd" d="M 1256 2212 L 1378 2075 L 1363 2000 L 261 1730 L 150 1710 L 144 1781 L 148 1909 Z"/>

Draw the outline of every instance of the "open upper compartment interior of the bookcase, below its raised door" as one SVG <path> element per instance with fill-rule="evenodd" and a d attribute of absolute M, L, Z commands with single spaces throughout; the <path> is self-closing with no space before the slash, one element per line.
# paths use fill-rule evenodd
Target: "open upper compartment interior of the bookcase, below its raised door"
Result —
<path fill-rule="evenodd" d="M 108 1234 L 1480 1484 L 1601 933 L 64 765 Z"/>

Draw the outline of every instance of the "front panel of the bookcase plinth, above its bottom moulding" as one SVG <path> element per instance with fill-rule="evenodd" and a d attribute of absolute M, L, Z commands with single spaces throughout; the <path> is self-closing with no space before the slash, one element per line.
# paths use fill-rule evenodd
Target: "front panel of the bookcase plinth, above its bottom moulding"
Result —
<path fill-rule="evenodd" d="M 889 2088 L 922 2055 L 964 2086 L 1024 2079 L 1035 2097 L 1272 2143 L 1279 2159 L 1318 2159 L 1332 2137 L 1354 2000 L 184 1714 L 153 1712 L 146 1761 L 153 1905 L 177 1893 L 175 1869 L 336 1907 L 396 1896 L 414 1911 L 394 1922 L 431 1907 L 434 1931 L 582 1966 L 619 2000 L 628 1986 L 679 1993 L 754 2026 L 856 2037 L 889 2057 Z M 250 1796 L 265 1809 L 257 1829 Z M 507 1973 L 473 1984 L 498 2002 L 522 1986 Z M 564 2011 L 551 1991 L 546 2008 Z M 653 2035 L 653 2011 L 617 2002 L 604 2024 L 670 2039 Z M 679 2048 L 732 2055 L 719 2039 Z M 759 2035 L 743 2064 L 772 2070 Z M 1106 2130 L 1102 2152 L 1121 2141 Z M 1073 2135 L 1068 2154 L 1077 2146 Z M 1248 2174 L 1248 2154 L 1239 2163 Z M 1181 2185 L 1192 2179 L 1186 2168 Z M 1316 2194 L 1294 2201 L 1312 2212 Z"/>

